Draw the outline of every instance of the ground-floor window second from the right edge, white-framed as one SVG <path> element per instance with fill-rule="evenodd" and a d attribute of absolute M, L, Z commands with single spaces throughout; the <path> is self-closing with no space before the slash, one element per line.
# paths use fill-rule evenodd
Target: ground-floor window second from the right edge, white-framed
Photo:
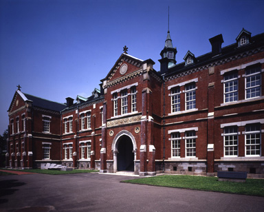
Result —
<path fill-rule="evenodd" d="M 223 142 L 224 142 L 224 156 L 237 156 L 238 153 L 238 140 L 237 140 L 237 127 L 225 127 L 223 129 Z"/>

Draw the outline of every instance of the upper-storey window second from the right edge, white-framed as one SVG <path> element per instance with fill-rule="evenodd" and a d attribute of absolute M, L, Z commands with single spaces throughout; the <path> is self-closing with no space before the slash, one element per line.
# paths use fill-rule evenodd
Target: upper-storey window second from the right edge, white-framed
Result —
<path fill-rule="evenodd" d="M 237 73 L 227 74 L 223 77 L 223 94 L 225 103 L 238 100 L 238 76 Z"/>

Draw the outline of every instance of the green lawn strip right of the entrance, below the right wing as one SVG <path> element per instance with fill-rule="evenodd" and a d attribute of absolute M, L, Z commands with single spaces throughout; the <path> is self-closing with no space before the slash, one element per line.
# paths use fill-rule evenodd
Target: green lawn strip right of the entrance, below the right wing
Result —
<path fill-rule="evenodd" d="M 221 182 L 214 177 L 201 176 L 155 176 L 151 178 L 139 178 L 125 180 L 135 184 L 148 184 L 160 187 L 175 187 L 195 189 L 202 191 L 218 191 L 223 193 L 238 193 L 244 195 L 257 195 L 264 197 L 264 180 L 247 179 L 243 182 Z"/>

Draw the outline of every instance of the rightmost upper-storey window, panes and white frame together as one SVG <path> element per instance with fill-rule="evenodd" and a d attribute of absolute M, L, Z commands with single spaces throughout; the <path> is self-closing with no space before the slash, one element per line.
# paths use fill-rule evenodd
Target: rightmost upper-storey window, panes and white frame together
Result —
<path fill-rule="evenodd" d="M 251 67 L 245 71 L 245 98 L 261 96 L 261 67 Z"/>

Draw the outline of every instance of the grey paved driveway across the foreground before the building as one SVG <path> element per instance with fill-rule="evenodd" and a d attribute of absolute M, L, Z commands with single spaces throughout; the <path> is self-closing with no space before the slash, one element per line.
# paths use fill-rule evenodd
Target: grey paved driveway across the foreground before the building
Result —
<path fill-rule="evenodd" d="M 0 211 L 263 211 L 264 198 L 120 183 L 132 176 L 0 176 Z"/>

